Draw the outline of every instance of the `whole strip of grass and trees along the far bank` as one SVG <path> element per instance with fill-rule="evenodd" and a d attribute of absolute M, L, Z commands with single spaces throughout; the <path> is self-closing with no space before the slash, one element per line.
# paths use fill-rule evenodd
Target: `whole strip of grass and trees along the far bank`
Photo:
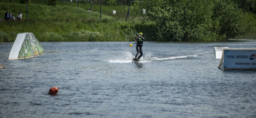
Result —
<path fill-rule="evenodd" d="M 99 4 L 93 4 L 89 12 L 91 4 L 87 2 L 57 1 L 55 6 L 48 6 L 47 0 L 31 0 L 26 19 L 26 4 L 3 0 L 1 19 L 6 10 L 15 17 L 21 11 L 23 22 L 0 23 L 0 42 L 14 42 L 17 34 L 23 32 L 34 33 L 40 42 L 133 41 L 136 32 L 142 32 L 146 41 L 220 41 L 254 34 L 255 14 L 227 1 L 144 0 L 133 3 L 130 19 L 125 22 L 128 6 L 124 12 L 124 5 L 102 5 L 100 19 Z"/>

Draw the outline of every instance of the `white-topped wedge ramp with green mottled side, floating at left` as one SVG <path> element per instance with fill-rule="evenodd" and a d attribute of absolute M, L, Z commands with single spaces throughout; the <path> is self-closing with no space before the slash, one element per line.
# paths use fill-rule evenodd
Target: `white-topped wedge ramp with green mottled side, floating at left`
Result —
<path fill-rule="evenodd" d="M 25 59 L 39 56 L 44 48 L 33 33 L 19 33 L 11 48 L 8 59 Z"/>

